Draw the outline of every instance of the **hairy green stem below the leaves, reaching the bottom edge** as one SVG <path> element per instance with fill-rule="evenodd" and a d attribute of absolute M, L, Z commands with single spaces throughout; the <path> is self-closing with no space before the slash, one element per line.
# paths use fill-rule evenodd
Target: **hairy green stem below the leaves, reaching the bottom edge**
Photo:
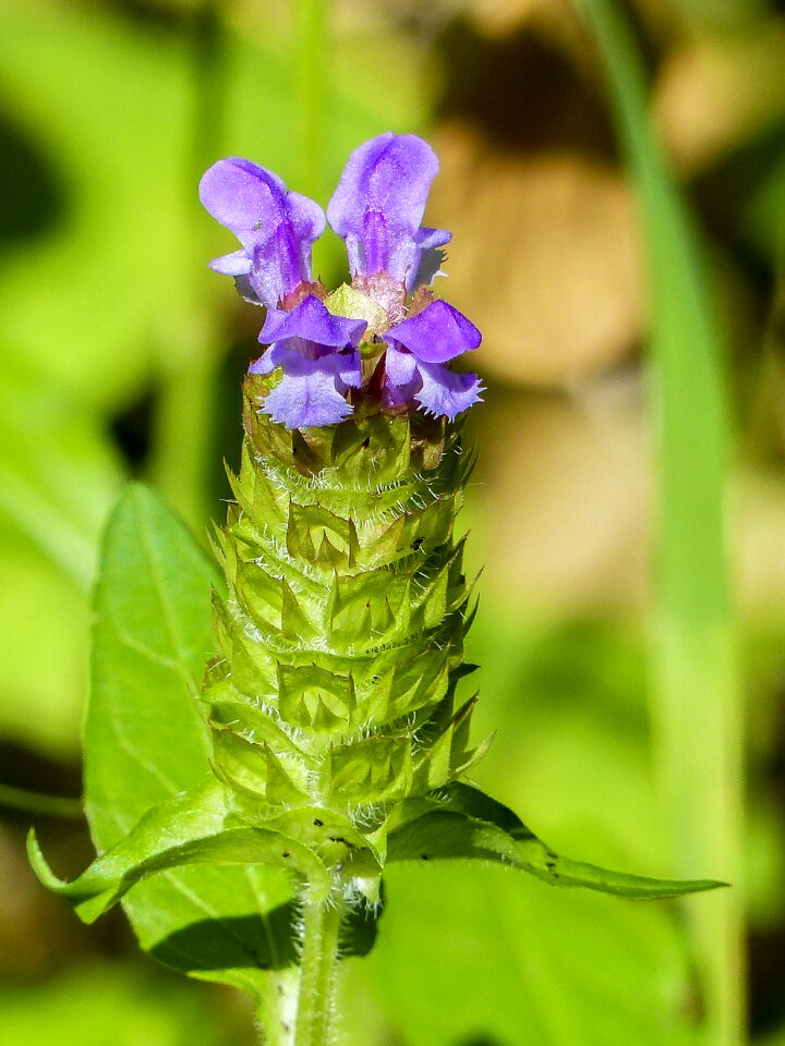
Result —
<path fill-rule="evenodd" d="M 302 954 L 293 1046 L 333 1042 L 333 996 L 338 972 L 338 937 L 345 915 L 341 899 L 303 902 Z"/>

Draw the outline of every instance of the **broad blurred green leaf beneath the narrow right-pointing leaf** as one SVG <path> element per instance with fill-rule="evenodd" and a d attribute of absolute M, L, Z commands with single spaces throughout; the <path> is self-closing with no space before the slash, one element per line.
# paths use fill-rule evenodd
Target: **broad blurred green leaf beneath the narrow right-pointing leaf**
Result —
<path fill-rule="evenodd" d="M 362 975 L 395 1041 L 702 1042 L 689 1011 L 690 965 L 668 903 L 546 890 L 499 865 L 459 862 L 396 864 L 385 887 L 385 915 Z"/>

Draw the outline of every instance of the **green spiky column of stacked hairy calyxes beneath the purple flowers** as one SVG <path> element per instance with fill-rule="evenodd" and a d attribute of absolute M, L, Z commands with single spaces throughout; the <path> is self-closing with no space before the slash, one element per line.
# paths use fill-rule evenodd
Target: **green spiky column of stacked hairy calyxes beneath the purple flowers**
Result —
<path fill-rule="evenodd" d="M 397 802 L 472 761 L 454 535 L 472 460 L 459 426 L 416 415 L 290 431 L 259 413 L 265 388 L 246 379 L 218 539 L 229 598 L 202 693 L 215 769 L 246 815 L 316 805 L 378 846 Z"/>

